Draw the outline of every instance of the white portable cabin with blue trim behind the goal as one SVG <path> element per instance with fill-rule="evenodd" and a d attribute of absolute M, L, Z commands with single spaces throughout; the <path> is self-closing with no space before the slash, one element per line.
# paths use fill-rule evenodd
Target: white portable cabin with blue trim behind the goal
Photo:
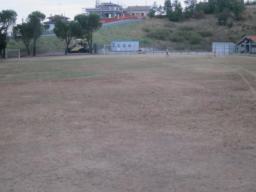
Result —
<path fill-rule="evenodd" d="M 111 51 L 139 51 L 139 41 L 111 41 Z"/>

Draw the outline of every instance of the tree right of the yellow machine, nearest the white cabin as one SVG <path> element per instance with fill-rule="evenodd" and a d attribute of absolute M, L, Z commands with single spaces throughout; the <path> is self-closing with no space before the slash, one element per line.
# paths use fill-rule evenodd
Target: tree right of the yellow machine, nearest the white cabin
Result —
<path fill-rule="evenodd" d="M 74 20 L 82 27 L 82 36 L 87 39 L 90 48 L 90 53 L 93 53 L 93 33 L 101 26 L 98 14 L 90 13 L 89 15 L 79 14 L 74 17 Z"/>

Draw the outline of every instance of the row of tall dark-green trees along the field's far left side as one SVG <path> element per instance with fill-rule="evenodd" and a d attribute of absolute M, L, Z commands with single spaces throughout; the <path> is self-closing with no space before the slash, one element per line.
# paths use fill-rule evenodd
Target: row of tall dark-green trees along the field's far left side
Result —
<path fill-rule="evenodd" d="M 16 25 L 17 13 L 10 10 L 2 10 L 0 12 L 0 55 L 5 58 L 6 46 L 9 36 L 13 36 L 15 41 L 22 41 L 26 46 L 27 55 L 30 55 L 29 44 L 33 40 L 33 56 L 36 55 L 36 41 L 42 35 L 43 31 L 49 29 L 48 24 L 43 24 L 45 15 L 40 11 L 32 12 L 22 19 L 21 24 Z M 99 15 L 90 13 L 89 15 L 76 15 L 74 20 L 66 22 L 61 17 L 55 15 L 55 27 L 53 32 L 58 38 L 66 41 L 65 55 L 67 55 L 68 47 L 72 38 L 83 38 L 87 40 L 90 53 L 93 52 L 93 32 L 102 26 Z"/>

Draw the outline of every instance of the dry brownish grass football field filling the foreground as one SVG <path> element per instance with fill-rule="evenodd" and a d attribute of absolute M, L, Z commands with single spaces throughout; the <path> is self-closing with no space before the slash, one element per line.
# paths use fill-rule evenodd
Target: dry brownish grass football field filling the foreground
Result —
<path fill-rule="evenodd" d="M 0 191 L 255 192 L 256 58 L 0 61 Z"/>

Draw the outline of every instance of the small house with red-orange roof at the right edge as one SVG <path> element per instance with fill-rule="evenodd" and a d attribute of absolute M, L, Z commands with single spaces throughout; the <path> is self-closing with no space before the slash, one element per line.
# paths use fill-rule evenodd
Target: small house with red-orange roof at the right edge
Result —
<path fill-rule="evenodd" d="M 241 41 L 236 43 L 236 52 L 245 54 L 255 54 L 256 53 L 256 36 L 247 35 L 242 38 Z"/>

